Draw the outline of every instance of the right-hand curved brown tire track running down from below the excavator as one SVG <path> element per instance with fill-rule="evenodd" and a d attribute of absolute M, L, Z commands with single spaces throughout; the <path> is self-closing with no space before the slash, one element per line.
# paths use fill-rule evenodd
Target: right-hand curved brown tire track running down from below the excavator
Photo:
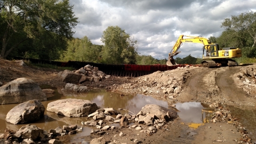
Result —
<path fill-rule="evenodd" d="M 247 94 L 241 87 L 236 86 L 232 78 L 239 69 L 240 67 L 229 67 L 222 73 L 217 74 L 216 84 L 223 98 L 235 103 L 244 103 L 248 101 Z"/>

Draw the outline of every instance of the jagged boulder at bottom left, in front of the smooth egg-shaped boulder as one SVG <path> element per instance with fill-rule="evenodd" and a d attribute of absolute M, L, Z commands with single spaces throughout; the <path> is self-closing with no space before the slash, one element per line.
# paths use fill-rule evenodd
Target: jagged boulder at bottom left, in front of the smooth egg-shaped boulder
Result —
<path fill-rule="evenodd" d="M 38 140 L 38 139 L 45 138 L 46 135 L 44 135 L 43 133 L 44 133 L 44 130 L 40 129 L 35 125 L 28 124 L 28 125 L 22 126 L 19 129 L 19 131 L 17 131 L 13 135 L 13 138 Z"/>

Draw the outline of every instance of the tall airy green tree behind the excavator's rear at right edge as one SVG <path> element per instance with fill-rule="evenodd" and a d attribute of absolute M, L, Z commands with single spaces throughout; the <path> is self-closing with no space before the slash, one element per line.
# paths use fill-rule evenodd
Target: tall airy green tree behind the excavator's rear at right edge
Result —
<path fill-rule="evenodd" d="M 221 23 L 221 27 L 229 31 L 231 37 L 237 38 L 239 45 L 256 46 L 256 12 L 249 11 L 240 15 L 232 15 Z"/>

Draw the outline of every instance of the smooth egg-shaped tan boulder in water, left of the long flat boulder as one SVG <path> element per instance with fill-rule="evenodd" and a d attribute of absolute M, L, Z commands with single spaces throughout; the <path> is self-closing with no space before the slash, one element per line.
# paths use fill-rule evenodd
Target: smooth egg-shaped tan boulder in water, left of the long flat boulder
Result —
<path fill-rule="evenodd" d="M 25 124 L 38 121 L 44 116 L 45 108 L 39 100 L 30 100 L 12 108 L 6 115 L 6 122 Z"/>

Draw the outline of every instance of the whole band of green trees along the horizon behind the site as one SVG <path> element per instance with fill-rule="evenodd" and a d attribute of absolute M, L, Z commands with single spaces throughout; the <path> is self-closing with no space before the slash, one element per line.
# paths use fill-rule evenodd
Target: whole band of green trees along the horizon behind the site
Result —
<path fill-rule="evenodd" d="M 109 64 L 164 64 L 151 55 L 138 53 L 137 41 L 124 29 L 109 26 L 102 32 L 103 45 L 87 36 L 74 38 L 78 18 L 69 0 L 0 0 L 0 59 L 7 56 L 60 61 L 88 61 Z M 256 55 L 256 13 L 232 15 L 221 23 L 219 37 L 210 37 L 220 47 L 239 47 L 243 57 Z M 167 54 L 166 54 L 167 57 Z M 200 58 L 177 57 L 175 61 L 195 64 Z"/>

